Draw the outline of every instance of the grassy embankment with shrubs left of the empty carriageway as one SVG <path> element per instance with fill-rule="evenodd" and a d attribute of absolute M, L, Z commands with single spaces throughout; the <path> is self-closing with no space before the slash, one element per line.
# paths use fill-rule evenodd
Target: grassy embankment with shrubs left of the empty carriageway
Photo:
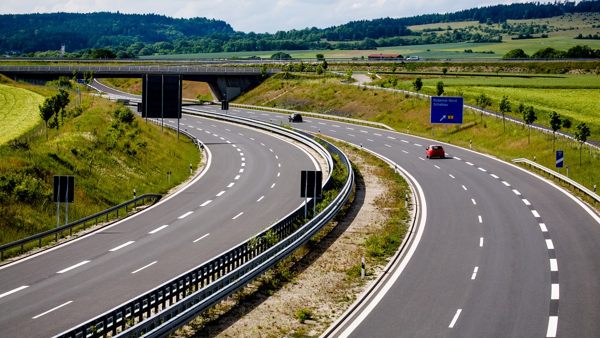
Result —
<path fill-rule="evenodd" d="M 0 91 L 19 89 L 29 100 L 40 97 L 32 90 L 56 92 L 17 87 L 7 90 L 2 86 Z M 74 100 L 75 95 L 70 98 Z M 124 108 L 82 94 L 82 104 L 67 109 L 58 130 L 48 130 L 48 140 L 45 128 L 40 130 L 36 122 L 32 128 L 22 128 L 16 139 L 0 145 L 0 244 L 56 227 L 53 175 L 75 177 L 75 202 L 68 209 L 68 220 L 74 222 L 130 200 L 133 189 L 137 196 L 165 194 L 190 177 L 190 164 L 194 171 L 199 167 L 199 149 L 187 137 L 178 139 L 175 131 L 161 131 L 137 115 L 133 122 L 119 121 L 115 116 L 119 109 Z M 8 133 L 7 125 L 0 125 L 0 131 Z M 172 172 L 170 181 L 168 171 Z M 61 225 L 64 212 L 62 205 Z"/>

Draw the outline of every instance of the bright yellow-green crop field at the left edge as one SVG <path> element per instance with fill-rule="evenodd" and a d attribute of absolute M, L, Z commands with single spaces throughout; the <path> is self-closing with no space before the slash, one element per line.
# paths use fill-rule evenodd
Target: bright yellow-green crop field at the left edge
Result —
<path fill-rule="evenodd" d="M 22 88 L 0 85 L 0 145 L 19 137 L 41 121 L 40 94 Z"/>

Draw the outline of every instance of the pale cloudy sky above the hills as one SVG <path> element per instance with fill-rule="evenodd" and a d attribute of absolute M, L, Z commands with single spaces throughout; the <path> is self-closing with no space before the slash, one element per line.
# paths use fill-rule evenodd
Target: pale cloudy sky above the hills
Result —
<path fill-rule="evenodd" d="M 328 28 L 354 20 L 451 13 L 527 0 L 2 0 L 0 14 L 155 13 L 223 20 L 236 31 L 275 33 Z"/>

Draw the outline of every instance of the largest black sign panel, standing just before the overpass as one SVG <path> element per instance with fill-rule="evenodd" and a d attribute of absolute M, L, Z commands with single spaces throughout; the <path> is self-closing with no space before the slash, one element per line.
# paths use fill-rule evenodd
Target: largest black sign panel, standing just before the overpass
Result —
<path fill-rule="evenodd" d="M 142 76 L 142 117 L 181 118 L 182 77 Z"/>

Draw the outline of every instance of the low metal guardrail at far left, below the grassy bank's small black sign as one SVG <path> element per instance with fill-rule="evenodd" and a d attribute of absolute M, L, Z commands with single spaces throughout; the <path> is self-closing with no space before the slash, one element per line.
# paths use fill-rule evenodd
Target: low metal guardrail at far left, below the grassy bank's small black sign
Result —
<path fill-rule="evenodd" d="M 116 216 L 119 217 L 119 210 L 121 210 L 122 208 L 125 208 L 125 213 L 127 213 L 127 207 L 131 204 L 136 204 L 137 201 L 142 201 L 142 204 L 145 202 L 146 199 L 156 199 L 158 201 L 158 199 L 161 199 L 163 197 L 163 195 L 160 194 L 144 194 L 141 196 L 137 196 L 134 199 L 130 199 L 127 202 L 121 203 L 119 205 L 115 205 L 115 207 L 109 208 L 107 210 L 104 211 L 100 211 L 100 213 L 96 213 L 93 214 L 91 216 L 88 217 L 84 217 L 83 219 L 77 220 L 75 222 L 71 222 L 68 223 L 67 225 L 63 225 L 63 226 L 59 226 L 56 229 L 51 229 L 48 231 L 44 231 L 41 232 L 40 234 L 37 235 L 33 235 L 33 236 L 29 236 L 27 238 L 23 238 L 22 240 L 18 240 L 18 241 L 14 241 L 12 243 L 8 243 L 8 244 L 4 244 L 3 246 L 0 246 L 0 261 L 4 261 L 4 252 L 7 250 L 11 250 L 14 249 L 16 247 L 21 247 L 21 251 L 20 253 L 23 253 L 23 246 L 25 246 L 25 244 L 29 244 L 35 241 L 38 241 L 38 247 L 41 247 L 41 240 L 43 240 L 46 237 L 50 237 L 52 235 L 54 235 L 55 237 L 55 241 L 58 239 L 58 234 L 60 234 L 63 231 L 70 231 L 70 235 L 73 234 L 73 228 L 75 228 L 76 226 L 80 226 L 83 225 L 83 230 L 85 230 L 85 225 L 88 222 L 92 222 L 95 220 L 95 225 L 98 225 L 98 219 L 100 217 L 104 217 L 106 216 L 106 221 L 108 222 L 108 216 L 109 214 L 115 213 L 116 212 Z"/>

